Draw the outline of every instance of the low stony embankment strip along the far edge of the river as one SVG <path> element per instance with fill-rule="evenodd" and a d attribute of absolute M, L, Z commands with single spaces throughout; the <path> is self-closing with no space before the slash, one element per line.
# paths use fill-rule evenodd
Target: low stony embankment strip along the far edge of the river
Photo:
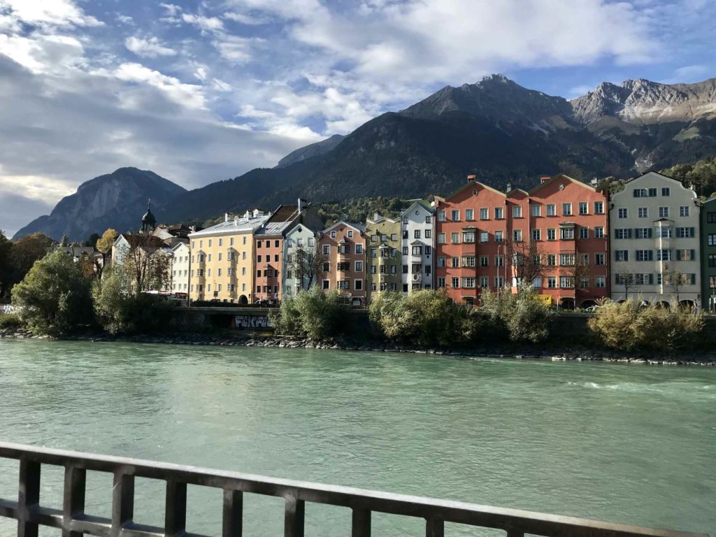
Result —
<path fill-rule="evenodd" d="M 34 338 L 49 339 L 43 336 L 35 336 L 26 329 L 0 329 L 0 338 Z M 542 344 L 540 347 L 522 347 L 519 345 L 495 344 L 492 347 L 475 346 L 470 348 L 456 349 L 425 349 L 421 347 L 396 345 L 381 342 L 319 342 L 312 339 L 296 337 L 282 337 L 274 335 L 258 335 L 251 333 L 238 334 L 153 334 L 136 336 L 112 336 L 105 332 L 79 334 L 63 338 L 72 341 L 87 342 L 135 342 L 155 344 L 179 344 L 179 345 L 208 345 L 218 347 L 276 347 L 285 349 L 335 349 L 346 351 L 365 352 L 407 352 L 415 354 L 436 354 L 451 357 L 486 357 L 504 359 L 531 359 L 548 360 L 551 362 L 618 362 L 630 364 L 652 364 L 652 365 L 702 365 L 716 366 L 716 354 L 690 355 L 688 358 L 672 355 L 625 354 L 587 348 L 582 345 L 555 345 L 549 347 Z"/>

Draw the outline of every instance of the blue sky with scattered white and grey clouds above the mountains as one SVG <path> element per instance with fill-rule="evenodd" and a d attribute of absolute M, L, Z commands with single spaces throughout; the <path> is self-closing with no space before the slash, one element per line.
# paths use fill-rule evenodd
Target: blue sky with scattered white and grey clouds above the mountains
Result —
<path fill-rule="evenodd" d="M 0 229 L 122 166 L 270 167 L 447 84 L 716 77 L 716 0 L 0 0 Z"/>

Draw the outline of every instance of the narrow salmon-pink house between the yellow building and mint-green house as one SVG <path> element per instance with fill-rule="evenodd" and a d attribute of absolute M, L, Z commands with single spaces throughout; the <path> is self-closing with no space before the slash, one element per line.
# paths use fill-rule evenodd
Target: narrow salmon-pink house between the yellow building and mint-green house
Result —
<path fill-rule="evenodd" d="M 279 301 L 284 296 L 283 277 L 284 240 L 286 231 L 294 223 L 306 223 L 319 228 L 321 219 L 304 200 L 297 205 L 280 205 L 279 208 L 253 234 L 256 280 L 253 301 Z"/>

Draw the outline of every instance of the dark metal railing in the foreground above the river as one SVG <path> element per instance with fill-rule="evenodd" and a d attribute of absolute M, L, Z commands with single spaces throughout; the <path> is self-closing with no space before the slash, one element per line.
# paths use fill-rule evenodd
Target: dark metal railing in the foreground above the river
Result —
<path fill-rule="evenodd" d="M 19 537 L 37 537 L 40 525 L 61 529 L 63 537 L 79 537 L 85 533 L 107 537 L 188 536 L 185 531 L 187 485 L 223 490 L 223 537 L 241 536 L 243 493 L 284 498 L 286 537 L 304 536 L 306 502 L 351 508 L 352 537 L 370 536 L 373 512 L 422 518 L 428 537 L 442 537 L 446 522 L 498 528 L 505 531 L 507 537 L 522 537 L 526 533 L 548 537 L 707 537 L 700 533 L 623 526 L 569 516 L 266 478 L 148 460 L 34 448 L 6 442 L 0 442 L 0 458 L 19 460 L 17 500 L 0 500 L 0 516 L 18 521 Z M 41 504 L 43 465 L 64 467 L 61 510 Z M 112 473 L 114 476 L 111 518 L 84 513 L 87 470 Z M 140 525 L 132 520 L 137 477 L 165 482 L 163 528 Z"/>

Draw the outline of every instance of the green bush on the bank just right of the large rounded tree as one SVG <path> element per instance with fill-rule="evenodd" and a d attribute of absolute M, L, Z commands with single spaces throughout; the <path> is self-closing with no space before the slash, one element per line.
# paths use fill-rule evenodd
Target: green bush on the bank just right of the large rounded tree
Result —
<path fill-rule="evenodd" d="M 156 332 L 168 319 L 156 296 L 130 293 L 125 271 L 105 271 L 102 280 L 95 281 L 92 299 L 97 319 L 110 334 Z"/>

